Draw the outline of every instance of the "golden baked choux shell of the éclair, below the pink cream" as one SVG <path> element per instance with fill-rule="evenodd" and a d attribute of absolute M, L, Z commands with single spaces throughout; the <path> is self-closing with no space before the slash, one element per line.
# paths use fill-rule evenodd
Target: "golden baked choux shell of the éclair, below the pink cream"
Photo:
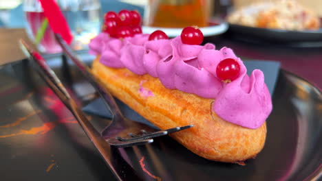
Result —
<path fill-rule="evenodd" d="M 219 118 L 211 104 L 181 90 L 165 88 L 158 78 L 136 75 L 128 69 L 114 69 L 99 62 L 92 64 L 92 73 L 112 95 L 123 101 L 142 117 L 160 129 L 193 124 L 193 128 L 171 134 L 171 137 L 191 152 L 221 162 L 239 162 L 255 157 L 264 147 L 266 123 L 248 129 Z M 142 97 L 141 87 L 153 92 L 153 97 Z"/>

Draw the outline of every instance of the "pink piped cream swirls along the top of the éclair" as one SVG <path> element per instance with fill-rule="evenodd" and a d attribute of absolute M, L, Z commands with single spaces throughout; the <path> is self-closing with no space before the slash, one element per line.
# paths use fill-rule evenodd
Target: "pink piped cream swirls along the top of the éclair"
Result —
<path fill-rule="evenodd" d="M 215 99 L 213 111 L 222 119 L 246 128 L 259 128 L 272 110 L 264 74 L 254 70 L 250 76 L 244 63 L 229 48 L 215 45 L 185 45 L 180 36 L 171 40 L 148 40 L 136 34 L 120 40 L 101 33 L 89 44 L 90 52 L 100 56 L 107 67 L 127 68 L 133 73 L 149 73 L 170 89 Z M 219 80 L 216 67 L 226 58 L 235 59 L 239 77 L 228 84 Z"/>

